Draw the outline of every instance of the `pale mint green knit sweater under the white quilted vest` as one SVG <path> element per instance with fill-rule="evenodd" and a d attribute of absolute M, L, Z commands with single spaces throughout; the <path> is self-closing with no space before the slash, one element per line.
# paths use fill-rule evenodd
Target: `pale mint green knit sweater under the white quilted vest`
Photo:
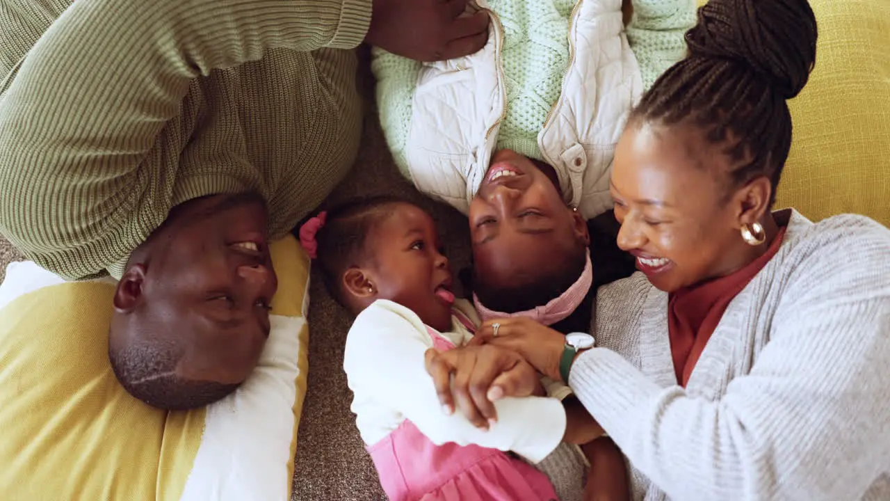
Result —
<path fill-rule="evenodd" d="M 584 0 L 590 1 L 590 0 Z M 544 160 L 538 133 L 559 100 L 569 64 L 569 21 L 575 0 L 489 0 L 504 27 L 501 61 L 506 78 L 506 117 L 498 148 Z M 633 0 L 627 41 L 649 88 L 684 57 L 685 32 L 695 24 L 695 0 Z M 422 64 L 376 50 L 377 102 L 396 163 L 407 173 L 405 144 L 411 101 Z"/>

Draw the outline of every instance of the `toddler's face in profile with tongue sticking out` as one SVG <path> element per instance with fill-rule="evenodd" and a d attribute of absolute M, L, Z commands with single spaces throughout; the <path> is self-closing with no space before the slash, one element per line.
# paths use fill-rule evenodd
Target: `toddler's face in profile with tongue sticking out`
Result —
<path fill-rule="evenodd" d="M 369 241 L 374 262 L 367 275 L 375 299 L 397 302 L 425 324 L 449 331 L 452 277 L 433 219 L 413 205 L 397 205 Z"/>

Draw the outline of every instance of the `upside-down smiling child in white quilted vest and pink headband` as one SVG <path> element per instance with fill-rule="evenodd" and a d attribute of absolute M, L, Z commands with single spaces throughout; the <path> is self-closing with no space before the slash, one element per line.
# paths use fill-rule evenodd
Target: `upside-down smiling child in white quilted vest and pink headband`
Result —
<path fill-rule="evenodd" d="M 581 285 L 588 249 L 593 289 L 633 272 L 633 259 L 615 248 L 617 226 L 606 221 L 612 157 L 643 91 L 684 57 L 696 2 L 476 7 L 491 16 L 490 42 L 479 53 L 422 63 L 376 51 L 377 104 L 402 174 L 469 215 L 483 316 L 537 317 Z M 568 324 L 587 331 L 591 295 L 546 318 L 562 321 L 563 332 Z"/>

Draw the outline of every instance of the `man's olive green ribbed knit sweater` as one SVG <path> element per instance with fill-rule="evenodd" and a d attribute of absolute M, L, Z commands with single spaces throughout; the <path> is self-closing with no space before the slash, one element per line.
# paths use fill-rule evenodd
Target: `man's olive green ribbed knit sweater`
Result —
<path fill-rule="evenodd" d="M 119 275 L 207 194 L 260 193 L 286 234 L 358 148 L 355 56 L 335 49 L 370 15 L 371 0 L 4 0 L 0 231 L 70 279 Z"/>

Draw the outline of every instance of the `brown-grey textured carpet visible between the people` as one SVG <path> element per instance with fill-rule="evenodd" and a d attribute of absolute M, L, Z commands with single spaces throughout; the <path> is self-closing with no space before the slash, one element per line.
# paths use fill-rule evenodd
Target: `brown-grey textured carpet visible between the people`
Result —
<path fill-rule="evenodd" d="M 366 97 L 365 134 L 352 174 L 328 202 L 356 195 L 393 194 L 429 209 L 440 225 L 452 267 L 469 261 L 466 219 L 457 211 L 425 199 L 406 183 L 392 164 L 373 105 L 373 79 L 366 62 L 360 71 L 360 88 Z M 0 281 L 5 267 L 23 259 L 0 237 Z M 297 439 L 294 500 L 336 501 L 383 499 L 374 465 L 359 438 L 349 410 L 352 393 L 343 372 L 343 348 L 350 318 L 328 297 L 313 275 L 310 306 L 309 390 Z"/>

